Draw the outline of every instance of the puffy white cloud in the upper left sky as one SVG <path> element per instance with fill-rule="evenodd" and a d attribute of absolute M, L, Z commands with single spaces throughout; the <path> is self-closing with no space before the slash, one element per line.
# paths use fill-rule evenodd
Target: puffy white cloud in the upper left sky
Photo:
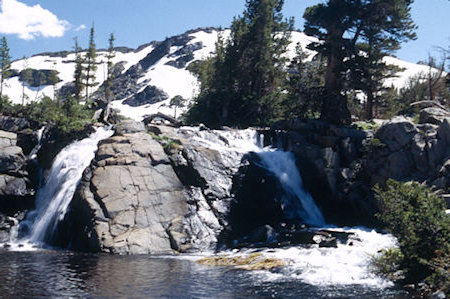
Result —
<path fill-rule="evenodd" d="M 59 20 L 39 4 L 28 6 L 17 0 L 1 0 L 0 33 L 17 34 L 25 40 L 61 37 L 68 26 L 69 22 Z"/>

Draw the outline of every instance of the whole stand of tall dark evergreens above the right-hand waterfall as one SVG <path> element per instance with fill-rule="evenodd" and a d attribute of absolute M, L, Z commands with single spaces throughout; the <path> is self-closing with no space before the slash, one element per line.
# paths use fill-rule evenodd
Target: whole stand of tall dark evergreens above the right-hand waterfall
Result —
<path fill-rule="evenodd" d="M 337 124 L 349 124 L 351 113 L 360 119 L 395 115 L 398 91 L 383 81 L 400 69 L 383 58 L 416 38 L 411 3 L 328 0 L 311 6 L 305 33 L 319 38 L 308 46 L 318 55 L 308 57 L 298 46 L 289 62 L 282 54 L 293 20 L 283 20 L 284 1 L 247 0 L 216 54 L 190 65 L 201 88 L 185 121 L 246 127 L 319 115 Z"/>

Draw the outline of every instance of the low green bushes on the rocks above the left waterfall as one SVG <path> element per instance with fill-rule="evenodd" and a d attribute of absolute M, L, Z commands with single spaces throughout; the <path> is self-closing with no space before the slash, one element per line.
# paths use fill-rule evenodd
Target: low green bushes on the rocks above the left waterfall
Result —
<path fill-rule="evenodd" d="M 77 134 L 92 124 L 93 111 L 69 98 L 62 103 L 44 96 L 39 102 L 28 105 L 13 105 L 3 97 L 0 101 L 0 114 L 24 117 L 38 124 L 48 123 L 68 134 Z"/>

